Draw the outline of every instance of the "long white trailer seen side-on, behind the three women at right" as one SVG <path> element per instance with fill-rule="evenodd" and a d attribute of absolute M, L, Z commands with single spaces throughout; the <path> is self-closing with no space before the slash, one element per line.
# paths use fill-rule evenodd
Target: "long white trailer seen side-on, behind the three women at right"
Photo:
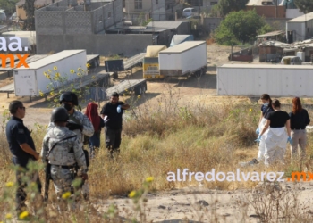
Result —
<path fill-rule="evenodd" d="M 217 95 L 313 97 L 313 66 L 224 64 L 217 67 Z"/>

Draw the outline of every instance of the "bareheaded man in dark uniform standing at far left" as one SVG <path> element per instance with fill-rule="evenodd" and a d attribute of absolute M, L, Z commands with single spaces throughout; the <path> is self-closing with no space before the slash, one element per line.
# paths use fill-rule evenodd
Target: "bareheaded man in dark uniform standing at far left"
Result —
<path fill-rule="evenodd" d="M 37 161 L 39 154 L 36 152 L 35 144 L 30 136 L 30 130 L 23 124 L 25 117 L 25 107 L 20 101 L 13 101 L 9 105 L 9 111 L 12 114 L 11 120 L 8 121 L 5 128 L 6 138 L 9 143 L 10 151 L 13 154 L 13 164 L 19 166 L 16 171 L 16 181 L 18 189 L 16 191 L 16 211 L 18 214 L 26 210 L 26 193 L 25 184 L 22 182 L 22 176 L 28 170 L 27 165 L 30 161 Z M 31 179 L 38 186 L 38 193 L 41 193 L 41 183 L 38 173 L 30 173 Z"/>

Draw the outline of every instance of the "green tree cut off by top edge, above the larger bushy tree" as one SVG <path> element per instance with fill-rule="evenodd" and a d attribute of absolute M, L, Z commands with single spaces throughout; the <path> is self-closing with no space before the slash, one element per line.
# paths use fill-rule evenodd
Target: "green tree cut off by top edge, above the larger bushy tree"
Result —
<path fill-rule="evenodd" d="M 225 17 L 229 12 L 238 12 L 246 8 L 249 0 L 220 0 L 218 4 L 214 5 L 213 13 L 221 17 Z"/>

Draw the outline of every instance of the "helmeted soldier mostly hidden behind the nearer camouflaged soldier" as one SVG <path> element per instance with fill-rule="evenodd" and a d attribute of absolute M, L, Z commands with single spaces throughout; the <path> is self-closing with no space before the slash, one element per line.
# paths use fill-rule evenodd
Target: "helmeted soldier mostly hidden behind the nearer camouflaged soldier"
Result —
<path fill-rule="evenodd" d="M 80 142 L 79 145 L 81 150 L 83 150 L 82 142 L 84 141 L 84 135 L 89 137 L 93 136 L 95 131 L 94 127 L 86 115 L 74 109 L 75 105 L 77 106 L 79 104 L 77 95 L 72 92 L 65 92 L 60 96 L 60 104 L 61 103 L 63 103 L 63 107 L 69 114 L 67 127 L 77 134 L 77 140 Z M 50 122 L 47 129 L 49 130 L 53 127 L 55 127 L 55 124 Z M 83 184 L 81 193 L 85 200 L 89 199 L 89 186 L 87 182 Z"/>

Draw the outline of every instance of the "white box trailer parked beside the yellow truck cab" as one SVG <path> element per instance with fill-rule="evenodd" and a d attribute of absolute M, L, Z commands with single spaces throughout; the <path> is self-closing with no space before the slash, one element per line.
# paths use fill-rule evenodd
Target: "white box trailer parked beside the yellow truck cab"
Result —
<path fill-rule="evenodd" d="M 207 71 L 206 41 L 187 41 L 158 54 L 160 75 L 182 77 L 202 75 Z"/>

